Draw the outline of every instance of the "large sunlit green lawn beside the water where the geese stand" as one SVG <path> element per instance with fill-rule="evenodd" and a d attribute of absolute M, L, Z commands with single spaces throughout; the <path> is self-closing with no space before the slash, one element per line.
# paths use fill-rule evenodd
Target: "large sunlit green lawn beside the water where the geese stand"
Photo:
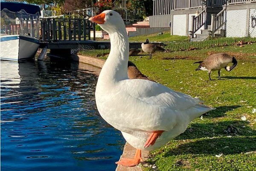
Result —
<path fill-rule="evenodd" d="M 209 54 L 236 56 L 231 72 L 195 71 Z M 107 53 L 105 51 L 104 53 Z M 96 50 L 94 54 L 102 54 Z M 106 54 L 98 55 L 106 59 Z M 256 43 L 191 51 L 157 52 L 131 56 L 140 71 L 173 90 L 198 97 L 216 109 L 190 123 L 188 129 L 160 149 L 151 151 L 147 163 L 159 171 L 253 171 L 256 169 Z M 241 116 L 246 117 L 246 121 Z M 228 129 L 232 126 L 232 129 Z M 216 155 L 222 154 L 220 157 Z M 145 165 L 144 165 L 145 166 Z"/>

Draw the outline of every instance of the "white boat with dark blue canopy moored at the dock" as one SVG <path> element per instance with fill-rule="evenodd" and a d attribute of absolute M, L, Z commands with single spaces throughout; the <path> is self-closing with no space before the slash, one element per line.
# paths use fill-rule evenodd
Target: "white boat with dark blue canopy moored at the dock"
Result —
<path fill-rule="evenodd" d="M 39 36 L 39 6 L 1 2 L 0 59 L 20 62 L 35 56 Z"/>

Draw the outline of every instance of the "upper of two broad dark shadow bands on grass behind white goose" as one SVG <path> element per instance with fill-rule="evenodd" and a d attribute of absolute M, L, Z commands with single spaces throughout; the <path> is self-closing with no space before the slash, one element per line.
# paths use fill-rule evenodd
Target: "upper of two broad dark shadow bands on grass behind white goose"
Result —
<path fill-rule="evenodd" d="M 223 121 L 213 123 L 192 123 L 185 132 L 175 138 L 175 140 L 187 140 L 204 137 L 227 136 L 234 134 L 227 134 L 228 126 L 235 126 L 239 129 L 237 135 L 250 136 L 256 135 L 256 131 L 247 126 L 246 121 Z"/>

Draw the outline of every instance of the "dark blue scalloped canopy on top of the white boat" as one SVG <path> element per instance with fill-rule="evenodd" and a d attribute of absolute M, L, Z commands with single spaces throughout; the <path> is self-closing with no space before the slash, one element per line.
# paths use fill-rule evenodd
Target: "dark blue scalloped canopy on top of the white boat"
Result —
<path fill-rule="evenodd" d="M 7 9 L 8 11 L 11 12 L 25 11 L 27 14 L 41 15 L 41 9 L 39 6 L 27 3 L 1 2 L 1 11 L 3 11 L 3 9 Z"/>

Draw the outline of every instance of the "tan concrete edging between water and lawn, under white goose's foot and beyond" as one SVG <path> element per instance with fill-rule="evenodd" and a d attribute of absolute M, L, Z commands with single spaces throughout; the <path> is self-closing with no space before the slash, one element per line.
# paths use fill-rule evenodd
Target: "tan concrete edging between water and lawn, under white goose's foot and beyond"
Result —
<path fill-rule="evenodd" d="M 73 54 L 71 58 L 77 62 L 85 63 L 85 64 L 90 64 L 99 68 L 102 68 L 105 60 L 104 59 L 97 59 L 91 56 L 85 56 L 85 55 L 76 55 Z M 129 143 L 125 143 L 124 150 L 120 158 L 130 158 L 132 159 L 134 157 L 134 154 L 136 152 L 136 149 L 132 147 Z M 148 151 L 141 151 L 141 157 L 145 161 L 147 160 L 149 155 Z M 142 171 L 142 168 L 140 166 L 134 166 L 134 167 L 126 167 L 123 165 L 117 165 L 116 171 Z"/>

